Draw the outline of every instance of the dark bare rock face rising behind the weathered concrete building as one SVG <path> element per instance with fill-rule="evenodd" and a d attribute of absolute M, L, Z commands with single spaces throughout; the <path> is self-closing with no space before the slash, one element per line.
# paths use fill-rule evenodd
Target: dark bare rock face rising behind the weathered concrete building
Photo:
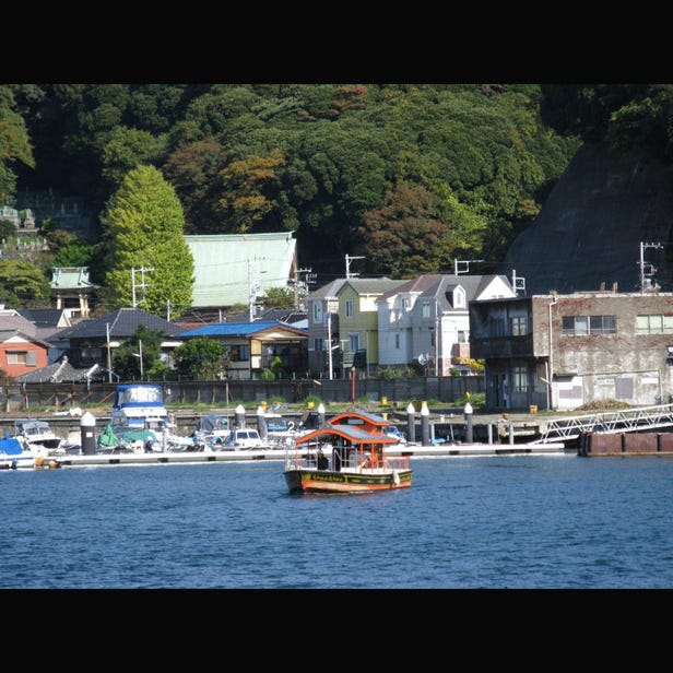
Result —
<path fill-rule="evenodd" d="M 639 292 L 640 244 L 646 275 L 673 291 L 664 252 L 673 222 L 673 168 L 649 157 L 626 158 L 605 145 L 582 145 L 535 222 L 498 268 L 523 278 L 526 294 L 606 290 Z"/>

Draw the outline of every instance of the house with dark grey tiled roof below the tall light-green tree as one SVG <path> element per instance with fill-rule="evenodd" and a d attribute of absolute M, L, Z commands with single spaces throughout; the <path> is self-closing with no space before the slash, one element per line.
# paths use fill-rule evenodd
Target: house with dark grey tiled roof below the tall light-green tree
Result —
<path fill-rule="evenodd" d="M 113 352 L 144 324 L 147 329 L 162 332 L 162 361 L 172 365 L 172 353 L 182 342 L 177 339 L 182 328 L 158 316 L 137 308 L 118 308 L 97 319 L 82 320 L 73 327 L 61 330 L 55 338 L 68 340 L 69 361 L 75 368 L 92 367 L 111 369 Z"/>

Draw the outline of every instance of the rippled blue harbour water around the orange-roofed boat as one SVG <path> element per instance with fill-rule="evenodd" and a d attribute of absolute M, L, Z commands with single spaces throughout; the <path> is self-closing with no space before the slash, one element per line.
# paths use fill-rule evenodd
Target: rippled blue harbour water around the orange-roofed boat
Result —
<path fill-rule="evenodd" d="M 282 462 L 0 471 L 0 587 L 673 587 L 672 458 L 412 465 L 345 496 Z"/>

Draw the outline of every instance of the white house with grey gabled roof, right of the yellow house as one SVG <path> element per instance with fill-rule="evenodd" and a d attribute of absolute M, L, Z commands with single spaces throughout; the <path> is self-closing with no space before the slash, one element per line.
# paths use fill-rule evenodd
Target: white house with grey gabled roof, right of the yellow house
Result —
<path fill-rule="evenodd" d="M 467 371 L 471 302 L 516 297 L 505 275 L 427 274 L 376 302 L 380 365 L 416 362 L 428 376 Z"/>

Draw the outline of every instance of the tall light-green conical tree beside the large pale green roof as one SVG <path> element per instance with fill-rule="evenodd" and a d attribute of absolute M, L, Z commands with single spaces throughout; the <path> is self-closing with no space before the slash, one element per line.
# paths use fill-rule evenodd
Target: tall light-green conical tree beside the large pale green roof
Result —
<path fill-rule="evenodd" d="M 144 310 L 162 315 L 168 303 L 173 315 L 189 308 L 193 258 L 185 240 L 182 206 L 161 172 L 152 166 L 129 172 L 102 221 L 110 250 L 106 285 L 115 305 L 131 306 L 135 286 L 135 300 Z M 142 268 L 151 269 L 144 279 Z"/>

